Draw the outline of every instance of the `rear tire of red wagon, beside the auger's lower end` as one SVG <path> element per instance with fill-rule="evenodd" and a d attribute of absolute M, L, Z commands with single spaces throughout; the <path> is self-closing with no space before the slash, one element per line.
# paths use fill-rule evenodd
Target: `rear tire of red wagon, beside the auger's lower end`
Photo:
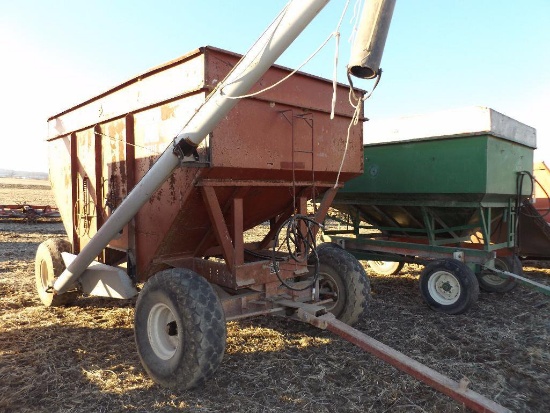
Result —
<path fill-rule="evenodd" d="M 50 238 L 42 242 L 36 250 L 34 260 L 34 280 L 38 298 L 46 307 L 58 307 L 72 303 L 78 297 L 78 291 L 69 291 L 54 295 L 46 291 L 52 287 L 55 279 L 65 271 L 62 252 L 71 252 L 69 241 L 61 238 Z"/>

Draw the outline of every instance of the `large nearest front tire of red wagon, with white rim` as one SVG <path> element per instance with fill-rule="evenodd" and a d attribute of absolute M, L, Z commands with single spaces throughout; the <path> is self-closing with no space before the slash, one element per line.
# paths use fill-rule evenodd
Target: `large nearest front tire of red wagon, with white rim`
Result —
<path fill-rule="evenodd" d="M 171 389 L 204 383 L 225 352 L 221 302 L 208 281 L 184 268 L 161 271 L 145 283 L 134 332 L 143 367 L 156 383 Z"/>

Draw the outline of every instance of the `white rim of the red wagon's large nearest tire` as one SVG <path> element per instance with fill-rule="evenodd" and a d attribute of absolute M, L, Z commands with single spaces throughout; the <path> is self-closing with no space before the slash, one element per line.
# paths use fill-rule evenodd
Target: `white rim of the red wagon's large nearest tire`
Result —
<path fill-rule="evenodd" d="M 162 360 L 170 359 L 178 349 L 179 329 L 174 313 L 166 304 L 158 303 L 151 308 L 147 318 L 149 343 Z"/>

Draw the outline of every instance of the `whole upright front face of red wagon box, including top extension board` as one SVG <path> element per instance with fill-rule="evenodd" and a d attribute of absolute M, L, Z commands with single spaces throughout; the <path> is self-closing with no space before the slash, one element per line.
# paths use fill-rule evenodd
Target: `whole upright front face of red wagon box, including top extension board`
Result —
<path fill-rule="evenodd" d="M 212 50 L 207 55 L 207 77 L 211 79 L 225 76 L 223 71 L 237 61 L 238 56 L 220 54 L 221 51 Z M 251 93 L 277 83 L 288 73 L 289 69 L 273 66 Z M 332 120 L 332 83 L 304 73 L 296 73 L 260 95 L 240 100 L 214 129 L 212 165 L 238 168 L 231 171 L 234 179 L 256 178 L 258 171 L 270 171 L 270 177 L 275 173 L 281 179 L 335 179 L 354 111 L 348 92 L 347 86 L 338 85 L 336 116 Z M 362 128 L 361 122 L 351 128 L 342 170 L 344 180 L 363 170 Z M 213 177 L 224 174 L 223 169 L 212 171 Z"/>

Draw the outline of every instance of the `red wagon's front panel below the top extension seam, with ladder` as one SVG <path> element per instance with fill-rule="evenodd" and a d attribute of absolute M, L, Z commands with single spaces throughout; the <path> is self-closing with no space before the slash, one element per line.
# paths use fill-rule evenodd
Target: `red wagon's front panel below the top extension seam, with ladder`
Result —
<path fill-rule="evenodd" d="M 269 171 L 272 179 L 335 180 L 349 122 L 349 118 L 331 121 L 328 113 L 243 100 L 214 130 L 212 165 L 222 169 L 210 176 L 219 178 L 226 174 L 223 168 L 235 168 L 234 179 L 256 178 L 258 172 Z M 361 128 L 351 129 L 344 180 L 362 171 L 363 160 L 357 156 L 362 153 Z"/>

